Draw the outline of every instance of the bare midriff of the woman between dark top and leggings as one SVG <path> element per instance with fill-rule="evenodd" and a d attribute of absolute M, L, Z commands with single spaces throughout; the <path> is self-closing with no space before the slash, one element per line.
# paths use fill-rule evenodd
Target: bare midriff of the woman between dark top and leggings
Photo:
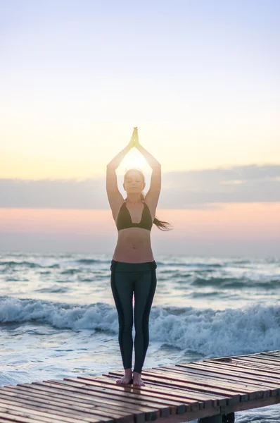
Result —
<path fill-rule="evenodd" d="M 151 231 L 144 228 L 125 228 L 118 231 L 113 259 L 116 262 L 153 262 Z"/>

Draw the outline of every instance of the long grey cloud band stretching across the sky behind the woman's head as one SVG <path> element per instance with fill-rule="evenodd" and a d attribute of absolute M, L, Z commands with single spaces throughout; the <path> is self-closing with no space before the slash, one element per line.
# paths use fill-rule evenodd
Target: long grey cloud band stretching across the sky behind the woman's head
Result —
<path fill-rule="evenodd" d="M 122 188 L 123 176 L 117 176 Z M 146 180 L 146 190 L 149 188 Z M 159 209 L 215 209 L 219 203 L 279 202 L 280 165 L 231 166 L 162 174 Z M 0 179 L 1 208 L 109 209 L 104 178 Z"/>

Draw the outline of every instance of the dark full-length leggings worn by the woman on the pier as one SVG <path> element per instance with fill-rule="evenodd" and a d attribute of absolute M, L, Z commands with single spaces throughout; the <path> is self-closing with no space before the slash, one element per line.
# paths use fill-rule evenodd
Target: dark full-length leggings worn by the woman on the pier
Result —
<path fill-rule="evenodd" d="M 119 344 L 122 364 L 132 369 L 132 295 L 134 293 L 134 372 L 141 373 L 148 349 L 148 319 L 150 316 L 157 278 L 155 261 L 125 263 L 112 260 L 111 288 L 119 319 Z"/>

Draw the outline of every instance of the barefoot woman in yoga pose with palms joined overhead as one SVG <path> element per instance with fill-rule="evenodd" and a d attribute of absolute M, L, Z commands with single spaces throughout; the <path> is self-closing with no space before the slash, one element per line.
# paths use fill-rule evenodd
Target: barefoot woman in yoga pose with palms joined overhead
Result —
<path fill-rule="evenodd" d="M 116 168 L 132 147 L 144 154 L 153 168 L 151 186 L 144 197 L 146 186 L 144 174 L 139 169 L 125 173 L 123 188 L 127 192 L 124 200 L 117 188 Z M 119 344 L 125 376 L 117 384 L 145 386 L 141 371 L 148 349 L 148 319 L 157 283 L 157 264 L 151 250 L 151 228 L 155 223 L 163 231 L 169 231 L 169 223 L 155 218 L 155 209 L 161 188 L 161 165 L 139 144 L 138 130 L 134 128 L 131 140 L 107 165 L 106 190 L 113 219 L 117 225 L 117 246 L 111 262 L 111 288 L 119 319 Z M 144 201 L 145 199 L 145 201 Z M 132 378 L 132 297 L 134 293 L 134 352 L 135 364 Z"/>

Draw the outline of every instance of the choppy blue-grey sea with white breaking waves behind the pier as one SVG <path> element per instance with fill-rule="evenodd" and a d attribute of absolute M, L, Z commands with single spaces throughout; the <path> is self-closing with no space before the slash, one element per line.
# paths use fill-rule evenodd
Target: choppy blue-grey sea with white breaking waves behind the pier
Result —
<path fill-rule="evenodd" d="M 122 368 L 111 259 L 0 252 L 0 386 Z M 279 257 L 158 255 L 155 262 L 143 369 L 280 350 Z M 235 417 L 280 422 L 280 404 Z"/>

